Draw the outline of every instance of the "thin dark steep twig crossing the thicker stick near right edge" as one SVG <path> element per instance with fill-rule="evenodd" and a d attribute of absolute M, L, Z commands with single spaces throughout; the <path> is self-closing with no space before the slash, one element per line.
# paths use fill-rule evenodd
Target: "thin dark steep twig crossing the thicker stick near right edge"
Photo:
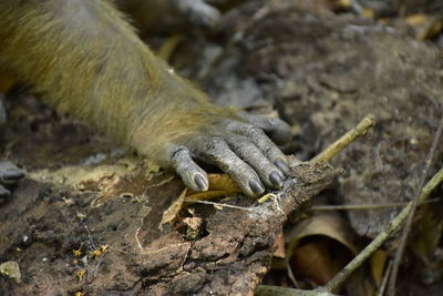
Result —
<path fill-rule="evenodd" d="M 413 217 L 414 217 L 414 214 L 415 214 L 415 210 L 416 210 L 416 207 L 419 205 L 420 193 L 421 193 L 421 191 L 423 188 L 424 182 L 426 181 L 426 176 L 427 176 L 429 170 L 431 167 L 432 160 L 434 159 L 436 147 L 437 147 L 437 145 L 440 143 L 440 139 L 442 136 L 442 132 L 443 132 L 443 114 L 442 114 L 442 118 L 440 120 L 439 127 L 436 130 L 436 133 L 435 133 L 434 140 L 432 142 L 430 152 L 427 153 L 426 161 L 424 162 L 424 167 L 423 167 L 423 173 L 422 173 L 422 176 L 421 176 L 421 180 L 420 180 L 420 185 L 419 185 L 418 191 L 415 193 L 415 198 L 412 200 L 411 211 L 410 211 L 410 213 L 408 213 L 408 220 L 406 220 L 406 223 L 404 225 L 404 228 L 403 228 L 403 232 L 402 232 L 402 235 L 401 235 L 401 238 L 400 238 L 399 248 L 396 249 L 394 264 L 392 266 L 392 273 L 391 273 L 391 277 L 390 277 L 389 286 L 388 286 L 388 295 L 389 296 L 394 296 L 395 295 L 396 276 L 398 276 L 398 273 L 399 273 L 399 267 L 400 267 L 401 259 L 403 257 L 404 248 L 406 246 L 408 235 L 409 235 L 409 233 L 411 231 L 412 221 L 413 221 Z"/>

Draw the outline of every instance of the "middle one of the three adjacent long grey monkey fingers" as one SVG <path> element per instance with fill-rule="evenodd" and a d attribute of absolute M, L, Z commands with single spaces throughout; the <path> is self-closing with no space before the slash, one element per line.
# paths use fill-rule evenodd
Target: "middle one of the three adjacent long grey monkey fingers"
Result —
<path fill-rule="evenodd" d="M 241 160 L 255 169 L 268 187 L 280 188 L 284 185 L 284 173 L 248 137 L 231 136 L 228 144 Z"/>

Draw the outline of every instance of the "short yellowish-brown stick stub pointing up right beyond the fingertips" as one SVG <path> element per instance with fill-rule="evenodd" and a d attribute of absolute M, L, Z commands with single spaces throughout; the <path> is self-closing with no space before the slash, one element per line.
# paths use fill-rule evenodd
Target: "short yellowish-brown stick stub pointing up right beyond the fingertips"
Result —
<path fill-rule="evenodd" d="M 352 143 L 358 136 L 364 135 L 369 127 L 375 124 L 375 118 L 372 114 L 368 114 L 357 126 L 351 131 L 343 134 L 339 140 L 329 145 L 323 152 L 313 157 L 311 163 L 327 162 L 333 156 L 339 154 L 350 143 Z"/>

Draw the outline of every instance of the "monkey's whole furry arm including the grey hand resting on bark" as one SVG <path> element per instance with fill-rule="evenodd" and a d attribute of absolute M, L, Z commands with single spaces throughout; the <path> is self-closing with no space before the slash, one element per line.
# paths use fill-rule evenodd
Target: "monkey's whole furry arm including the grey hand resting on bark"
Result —
<path fill-rule="evenodd" d="M 209 103 L 107 1 L 3 0 L 0 40 L 0 68 L 59 111 L 175 169 L 188 187 L 208 187 L 197 160 L 230 174 L 251 196 L 264 184 L 282 185 L 286 157 L 265 132 L 281 140 L 289 126 Z"/>

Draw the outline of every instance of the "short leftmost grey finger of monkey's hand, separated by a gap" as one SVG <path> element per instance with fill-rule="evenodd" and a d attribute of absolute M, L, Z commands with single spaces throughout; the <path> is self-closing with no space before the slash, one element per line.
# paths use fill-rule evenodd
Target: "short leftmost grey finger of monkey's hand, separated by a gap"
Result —
<path fill-rule="evenodd" d="M 194 162 L 188 150 L 177 150 L 173 154 L 171 162 L 187 187 L 196 192 L 208 190 L 207 174 Z"/>

